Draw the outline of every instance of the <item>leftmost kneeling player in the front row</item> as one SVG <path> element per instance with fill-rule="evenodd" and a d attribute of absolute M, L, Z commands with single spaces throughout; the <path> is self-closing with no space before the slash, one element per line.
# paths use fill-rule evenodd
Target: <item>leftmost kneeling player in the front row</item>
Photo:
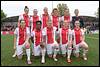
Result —
<path fill-rule="evenodd" d="M 29 28 L 25 26 L 24 20 L 20 20 L 20 26 L 14 31 L 14 49 L 16 49 L 16 54 L 18 59 L 22 58 L 23 48 L 26 48 L 27 63 L 31 64 L 30 60 L 30 44 L 28 42 L 30 37 Z"/>

